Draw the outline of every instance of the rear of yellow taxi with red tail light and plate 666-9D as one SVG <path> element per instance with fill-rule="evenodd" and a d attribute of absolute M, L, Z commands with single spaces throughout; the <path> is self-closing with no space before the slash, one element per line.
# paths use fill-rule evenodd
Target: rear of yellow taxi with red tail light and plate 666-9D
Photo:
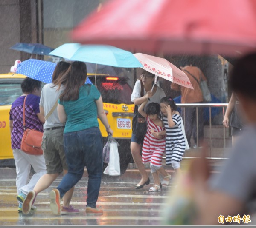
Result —
<path fill-rule="evenodd" d="M 128 84 L 128 77 L 114 77 L 106 74 L 87 74 L 91 82 L 99 89 L 103 108 L 108 118 L 108 123 L 113 129 L 113 137 L 119 143 L 121 175 L 125 172 L 129 163 L 133 163 L 131 156 L 131 133 L 134 103 L 131 102 L 132 88 Z M 102 136 L 107 137 L 104 125 L 99 121 Z M 105 140 L 106 142 L 106 140 Z M 104 164 L 105 168 L 107 165 Z"/>

